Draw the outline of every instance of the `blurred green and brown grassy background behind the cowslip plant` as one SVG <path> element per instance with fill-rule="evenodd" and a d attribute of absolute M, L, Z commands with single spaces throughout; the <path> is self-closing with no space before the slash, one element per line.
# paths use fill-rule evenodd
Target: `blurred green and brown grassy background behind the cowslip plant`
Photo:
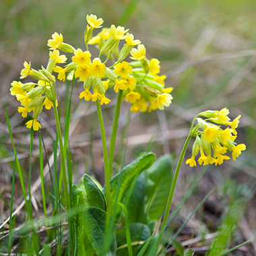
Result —
<path fill-rule="evenodd" d="M 160 60 L 160 75 L 166 75 L 166 87 L 173 87 L 172 104 L 164 111 L 131 115 L 128 128 L 125 162 L 134 160 L 140 152 L 151 150 L 156 156 L 172 153 L 179 156 L 190 122 L 207 109 L 230 109 L 230 118 L 242 115 L 238 129 L 238 143 L 247 150 L 233 162 L 210 166 L 194 195 L 177 216 L 177 228 L 191 214 L 195 205 L 216 187 L 216 191 L 191 218 L 178 240 L 181 243 L 194 236 L 208 237 L 203 244 L 193 243 L 197 254 L 205 254 L 215 233 L 233 220 L 230 239 L 226 246 L 238 245 L 256 233 L 255 201 L 255 139 L 256 139 L 256 1 L 201 1 L 201 0 L 1 0 L 0 1 L 0 196 L 9 200 L 13 151 L 7 130 L 5 108 L 10 118 L 15 144 L 19 148 L 20 164 L 28 172 L 30 131 L 18 113 L 19 105 L 9 94 L 13 80 L 19 81 L 24 61 L 31 61 L 34 69 L 46 66 L 49 59 L 47 40 L 54 32 L 63 34 L 64 41 L 75 48 L 84 46 L 86 15 L 93 13 L 103 18 L 104 27 L 111 24 L 129 28 L 135 39 L 146 46 L 148 59 Z M 95 33 L 100 30 L 94 30 Z M 94 49 L 92 46 L 90 49 Z M 95 57 L 98 51 L 92 51 Z M 71 55 L 68 56 L 71 58 Z M 28 79 L 24 79 L 29 82 Z M 64 105 L 66 84 L 57 84 Z M 74 180 L 79 182 L 84 172 L 95 175 L 104 183 L 102 147 L 96 108 L 92 102 L 79 100 L 82 84 L 75 84 L 72 100 L 70 147 L 72 150 Z M 110 138 L 115 93 L 110 92 L 111 104 L 104 106 L 106 133 Z M 121 133 L 129 104 L 123 102 L 119 122 L 117 148 L 122 147 Z M 40 115 L 46 150 L 51 156 L 52 139 L 56 137 L 53 111 Z M 191 156 L 192 143 L 185 159 Z M 120 160 L 117 150 L 117 163 Z M 176 162 L 174 162 L 175 165 Z M 46 164 L 46 162 L 44 162 Z M 34 133 L 32 184 L 40 176 L 38 168 L 38 134 Z M 185 194 L 202 166 L 190 168 L 183 164 L 174 205 Z M 118 169 L 118 168 L 117 168 Z M 46 175 L 49 179 L 49 174 Z M 17 179 L 18 180 L 18 179 Z M 19 183 L 15 207 L 21 202 Z M 28 181 L 26 181 L 28 183 Z M 50 183 L 49 183 L 50 184 Z M 0 222 L 8 211 L 0 198 Z M 34 193 L 35 209 L 40 214 L 40 190 Z M 230 217 L 235 212 L 236 217 Z M 229 224 L 230 226 L 230 224 Z M 208 235 L 208 236 L 207 236 Z M 201 249 L 198 249 L 201 248 Z M 171 252 L 171 250 L 170 250 Z M 233 255 L 233 254 L 232 254 Z M 256 242 L 242 247 L 234 255 L 256 255 Z"/>

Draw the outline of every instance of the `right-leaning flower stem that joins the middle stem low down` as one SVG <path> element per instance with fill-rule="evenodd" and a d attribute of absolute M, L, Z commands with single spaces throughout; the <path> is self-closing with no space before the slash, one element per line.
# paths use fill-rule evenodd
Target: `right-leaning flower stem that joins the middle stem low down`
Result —
<path fill-rule="evenodd" d="M 115 153 L 115 142 L 117 138 L 117 127 L 118 127 L 118 120 L 119 120 L 119 113 L 120 113 L 120 106 L 121 106 L 121 98 L 122 98 L 122 90 L 119 90 L 119 94 L 117 96 L 117 104 L 115 108 L 115 117 L 113 121 L 113 128 L 111 133 L 110 139 L 110 146 L 109 146 L 109 157 L 108 157 L 108 168 L 109 168 L 109 178 L 111 179 L 112 170 L 113 170 L 113 160 L 114 160 L 114 153 Z"/>

